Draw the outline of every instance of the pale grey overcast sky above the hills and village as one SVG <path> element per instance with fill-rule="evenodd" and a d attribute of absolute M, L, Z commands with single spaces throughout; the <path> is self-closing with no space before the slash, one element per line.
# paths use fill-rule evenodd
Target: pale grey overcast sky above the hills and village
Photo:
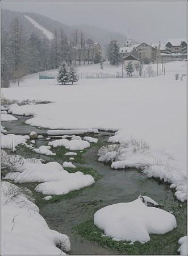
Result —
<path fill-rule="evenodd" d="M 70 26 L 131 32 L 137 42 L 187 38 L 187 1 L 1 1 L 1 9 L 30 11 Z"/>

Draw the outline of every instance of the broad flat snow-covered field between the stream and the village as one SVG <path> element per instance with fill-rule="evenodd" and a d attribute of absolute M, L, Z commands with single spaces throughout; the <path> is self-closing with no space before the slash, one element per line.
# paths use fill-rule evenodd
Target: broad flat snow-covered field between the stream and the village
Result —
<path fill-rule="evenodd" d="M 93 72 L 101 72 L 99 64 L 78 67 L 78 72 L 90 72 L 91 68 Z M 105 63 L 102 72 L 116 74 L 121 69 L 121 66 L 117 68 Z M 157 70 L 157 64 L 153 64 L 153 69 Z M 170 172 L 171 181 L 181 194 L 178 195 L 179 199 L 184 201 L 187 176 L 187 77 L 175 80 L 176 73 L 180 76 L 187 73 L 185 61 L 166 63 L 164 76 L 147 79 L 80 79 L 73 85 L 60 85 L 56 80 L 39 80 L 39 74 L 34 74 L 26 76 L 19 87 L 14 85 L 11 88 L 2 88 L 2 94 L 12 100 L 54 102 L 45 105 L 10 106 L 9 114 L 33 115 L 26 121 L 28 125 L 49 129 L 116 131 L 115 136 L 110 137 L 110 142 L 130 141 L 131 138 L 143 140 L 150 145 L 147 149 L 149 151 L 128 150 L 128 154 L 125 153 L 121 159 L 127 162 L 114 161 L 112 167 L 118 168 L 121 164 L 134 166 L 138 159 L 139 162 L 145 160 L 150 163 L 154 159 L 156 163 L 162 163 L 158 164 L 160 167 L 165 164 L 167 167 L 174 167 L 166 168 L 166 174 Z M 6 136 L 8 135 L 3 137 Z M 84 143 L 89 143 L 87 139 Z M 6 141 L 5 138 L 3 140 Z M 23 141 L 21 139 L 20 143 Z M 66 142 L 65 139 L 57 143 L 62 142 Z M 69 149 L 73 150 L 72 147 Z M 152 164 L 147 170 L 148 176 L 149 171 L 150 174 L 158 174 Z M 169 229 L 174 226 L 169 224 Z"/>

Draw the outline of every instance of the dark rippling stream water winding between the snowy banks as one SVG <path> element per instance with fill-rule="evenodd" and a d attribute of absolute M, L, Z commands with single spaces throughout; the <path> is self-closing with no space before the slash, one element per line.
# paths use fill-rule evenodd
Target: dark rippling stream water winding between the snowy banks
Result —
<path fill-rule="evenodd" d="M 36 131 L 35 127 L 23 125 L 20 120 L 19 123 L 19 128 L 15 125 L 11 128 L 11 123 L 9 122 L 9 131 L 15 129 L 15 127 L 17 131 L 19 131 L 19 134 L 22 135 L 23 127 L 24 134 L 27 135 L 29 135 L 31 131 Z M 2 125 L 5 127 L 8 126 L 7 122 L 3 122 Z M 11 131 L 11 133 L 13 132 Z M 43 130 L 42 133 L 39 134 L 47 135 L 47 131 Z M 100 131 L 99 134 L 94 134 L 93 137 L 101 138 L 105 144 L 110 135 L 112 135 L 112 133 Z M 44 139 L 40 139 L 40 144 L 37 146 L 41 146 L 44 141 Z M 116 252 L 98 246 L 95 243 L 84 242 L 80 237 L 71 233 L 71 229 L 74 225 L 80 224 L 88 218 L 93 218 L 94 213 L 98 209 L 111 204 L 133 201 L 137 199 L 140 194 L 151 197 L 153 200 L 157 201 L 158 204 L 169 205 L 169 211 L 171 210 L 172 203 L 178 204 L 168 184 L 158 184 L 157 181 L 148 179 L 146 175 L 136 169 L 112 170 L 110 166 L 98 162 L 98 149 L 99 147 L 97 146 L 90 147 L 87 152 L 83 154 L 86 164 L 73 163 L 76 164 L 76 166 L 94 168 L 99 174 L 103 175 L 101 180 L 97 181 L 91 189 L 87 189 L 87 191 L 82 192 L 81 195 L 75 196 L 72 199 L 63 199 L 57 203 L 39 206 L 40 214 L 45 218 L 50 229 L 70 236 L 70 254 L 72 255 L 116 254 Z"/>

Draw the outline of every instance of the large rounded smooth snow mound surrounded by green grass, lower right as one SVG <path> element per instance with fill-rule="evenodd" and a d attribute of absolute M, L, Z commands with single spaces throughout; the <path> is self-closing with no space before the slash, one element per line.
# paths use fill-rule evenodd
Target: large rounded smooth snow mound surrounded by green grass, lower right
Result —
<path fill-rule="evenodd" d="M 177 226 L 173 214 L 147 207 L 140 198 L 98 210 L 94 224 L 108 237 L 132 242 L 148 242 L 149 234 L 165 234 Z"/>

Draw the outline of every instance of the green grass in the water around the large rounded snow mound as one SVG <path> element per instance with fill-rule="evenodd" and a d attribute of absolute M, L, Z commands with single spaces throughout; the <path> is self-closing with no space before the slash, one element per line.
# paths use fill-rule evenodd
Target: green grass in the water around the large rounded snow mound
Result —
<path fill-rule="evenodd" d="M 182 205 L 182 207 L 179 207 L 179 205 Z M 162 208 L 166 208 L 166 205 Z M 118 253 L 134 255 L 177 255 L 177 250 L 180 247 L 178 240 L 182 236 L 186 236 L 187 204 L 181 203 L 174 205 L 172 203 L 167 208 L 171 210 L 173 208 L 173 214 L 177 220 L 177 228 L 166 234 L 150 234 L 151 241 L 144 244 L 134 242 L 133 245 L 129 245 L 130 241 L 112 241 L 112 238 L 102 236 L 104 232 L 94 225 L 93 218 L 74 226 L 72 232 L 85 241 L 96 242 L 98 245 L 116 250 Z"/>

